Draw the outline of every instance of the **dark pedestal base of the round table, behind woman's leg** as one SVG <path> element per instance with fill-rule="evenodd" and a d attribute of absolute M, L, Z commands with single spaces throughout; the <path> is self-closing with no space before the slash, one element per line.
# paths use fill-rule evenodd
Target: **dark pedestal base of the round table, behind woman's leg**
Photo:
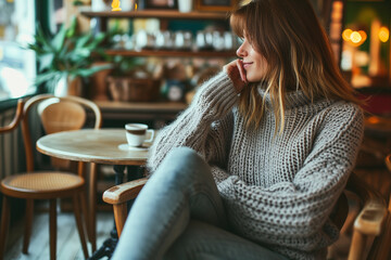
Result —
<path fill-rule="evenodd" d="M 114 166 L 115 171 L 115 185 L 118 185 L 124 182 L 124 171 L 125 167 L 127 168 L 127 181 L 137 180 L 143 177 L 142 167 L 140 166 Z M 133 202 L 128 204 L 128 210 L 130 209 Z M 103 245 L 92 253 L 88 260 L 101 259 L 106 257 L 110 259 L 114 252 L 116 244 L 118 243 L 118 234 L 115 226 L 110 232 L 110 237 L 103 242 Z"/>

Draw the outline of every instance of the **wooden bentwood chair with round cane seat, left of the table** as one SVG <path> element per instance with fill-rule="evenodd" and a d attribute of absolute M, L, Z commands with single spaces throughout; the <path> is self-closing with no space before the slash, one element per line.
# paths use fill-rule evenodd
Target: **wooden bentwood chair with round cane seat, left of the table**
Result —
<path fill-rule="evenodd" d="M 37 107 L 38 104 L 39 107 Z M 94 103 L 77 96 L 55 98 L 50 94 L 42 94 L 29 99 L 24 105 L 23 113 L 17 109 L 18 113 L 15 115 L 15 123 L 11 125 L 11 127 L 1 129 L 1 132 L 15 129 L 17 122 L 22 118 L 27 172 L 7 177 L 1 181 L 3 203 L 0 258 L 3 257 L 7 245 L 8 224 L 10 220 L 10 197 L 26 199 L 26 221 L 23 243 L 24 253 L 27 253 L 28 251 L 29 237 L 31 234 L 34 199 L 50 200 L 50 259 L 55 259 L 56 253 L 56 200 L 59 198 L 72 198 L 84 256 L 85 258 L 88 258 L 85 226 L 84 221 L 81 220 L 79 204 L 79 202 L 81 202 L 84 214 L 87 217 L 88 210 L 86 203 L 84 165 L 81 162 L 78 165 L 78 174 L 64 171 L 35 171 L 33 153 L 34 144 L 31 143 L 29 130 L 29 117 L 31 116 L 33 110 L 37 110 L 40 115 L 42 127 L 47 132 L 79 129 L 86 121 L 85 107 L 93 112 L 94 128 L 100 128 L 102 120 L 101 113 Z M 91 167 L 91 169 L 93 167 Z"/>

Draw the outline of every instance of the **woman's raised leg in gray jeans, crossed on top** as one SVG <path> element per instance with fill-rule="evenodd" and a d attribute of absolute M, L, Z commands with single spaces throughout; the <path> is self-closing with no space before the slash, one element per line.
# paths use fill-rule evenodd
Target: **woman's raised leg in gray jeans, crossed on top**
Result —
<path fill-rule="evenodd" d="M 166 156 L 138 195 L 112 259 L 161 259 L 190 216 L 226 225 L 209 165 L 193 150 L 179 147 Z"/>

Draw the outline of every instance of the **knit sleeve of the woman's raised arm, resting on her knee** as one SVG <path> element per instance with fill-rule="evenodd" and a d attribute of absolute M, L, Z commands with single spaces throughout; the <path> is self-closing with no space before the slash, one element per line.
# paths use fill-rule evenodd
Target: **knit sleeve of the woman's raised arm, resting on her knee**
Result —
<path fill-rule="evenodd" d="M 190 106 L 163 128 L 150 148 L 148 167 L 153 172 L 167 153 L 178 146 L 197 151 L 205 160 L 224 165 L 232 129 L 232 107 L 238 95 L 226 73 L 200 87 Z"/>

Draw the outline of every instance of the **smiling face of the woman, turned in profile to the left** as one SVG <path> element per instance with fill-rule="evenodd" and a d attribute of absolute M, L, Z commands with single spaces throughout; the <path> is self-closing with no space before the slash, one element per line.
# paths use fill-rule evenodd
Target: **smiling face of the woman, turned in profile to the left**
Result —
<path fill-rule="evenodd" d="M 243 61 L 243 68 L 249 82 L 257 82 L 264 79 L 267 69 L 266 60 L 253 49 L 245 37 L 237 50 L 237 55 Z"/>

